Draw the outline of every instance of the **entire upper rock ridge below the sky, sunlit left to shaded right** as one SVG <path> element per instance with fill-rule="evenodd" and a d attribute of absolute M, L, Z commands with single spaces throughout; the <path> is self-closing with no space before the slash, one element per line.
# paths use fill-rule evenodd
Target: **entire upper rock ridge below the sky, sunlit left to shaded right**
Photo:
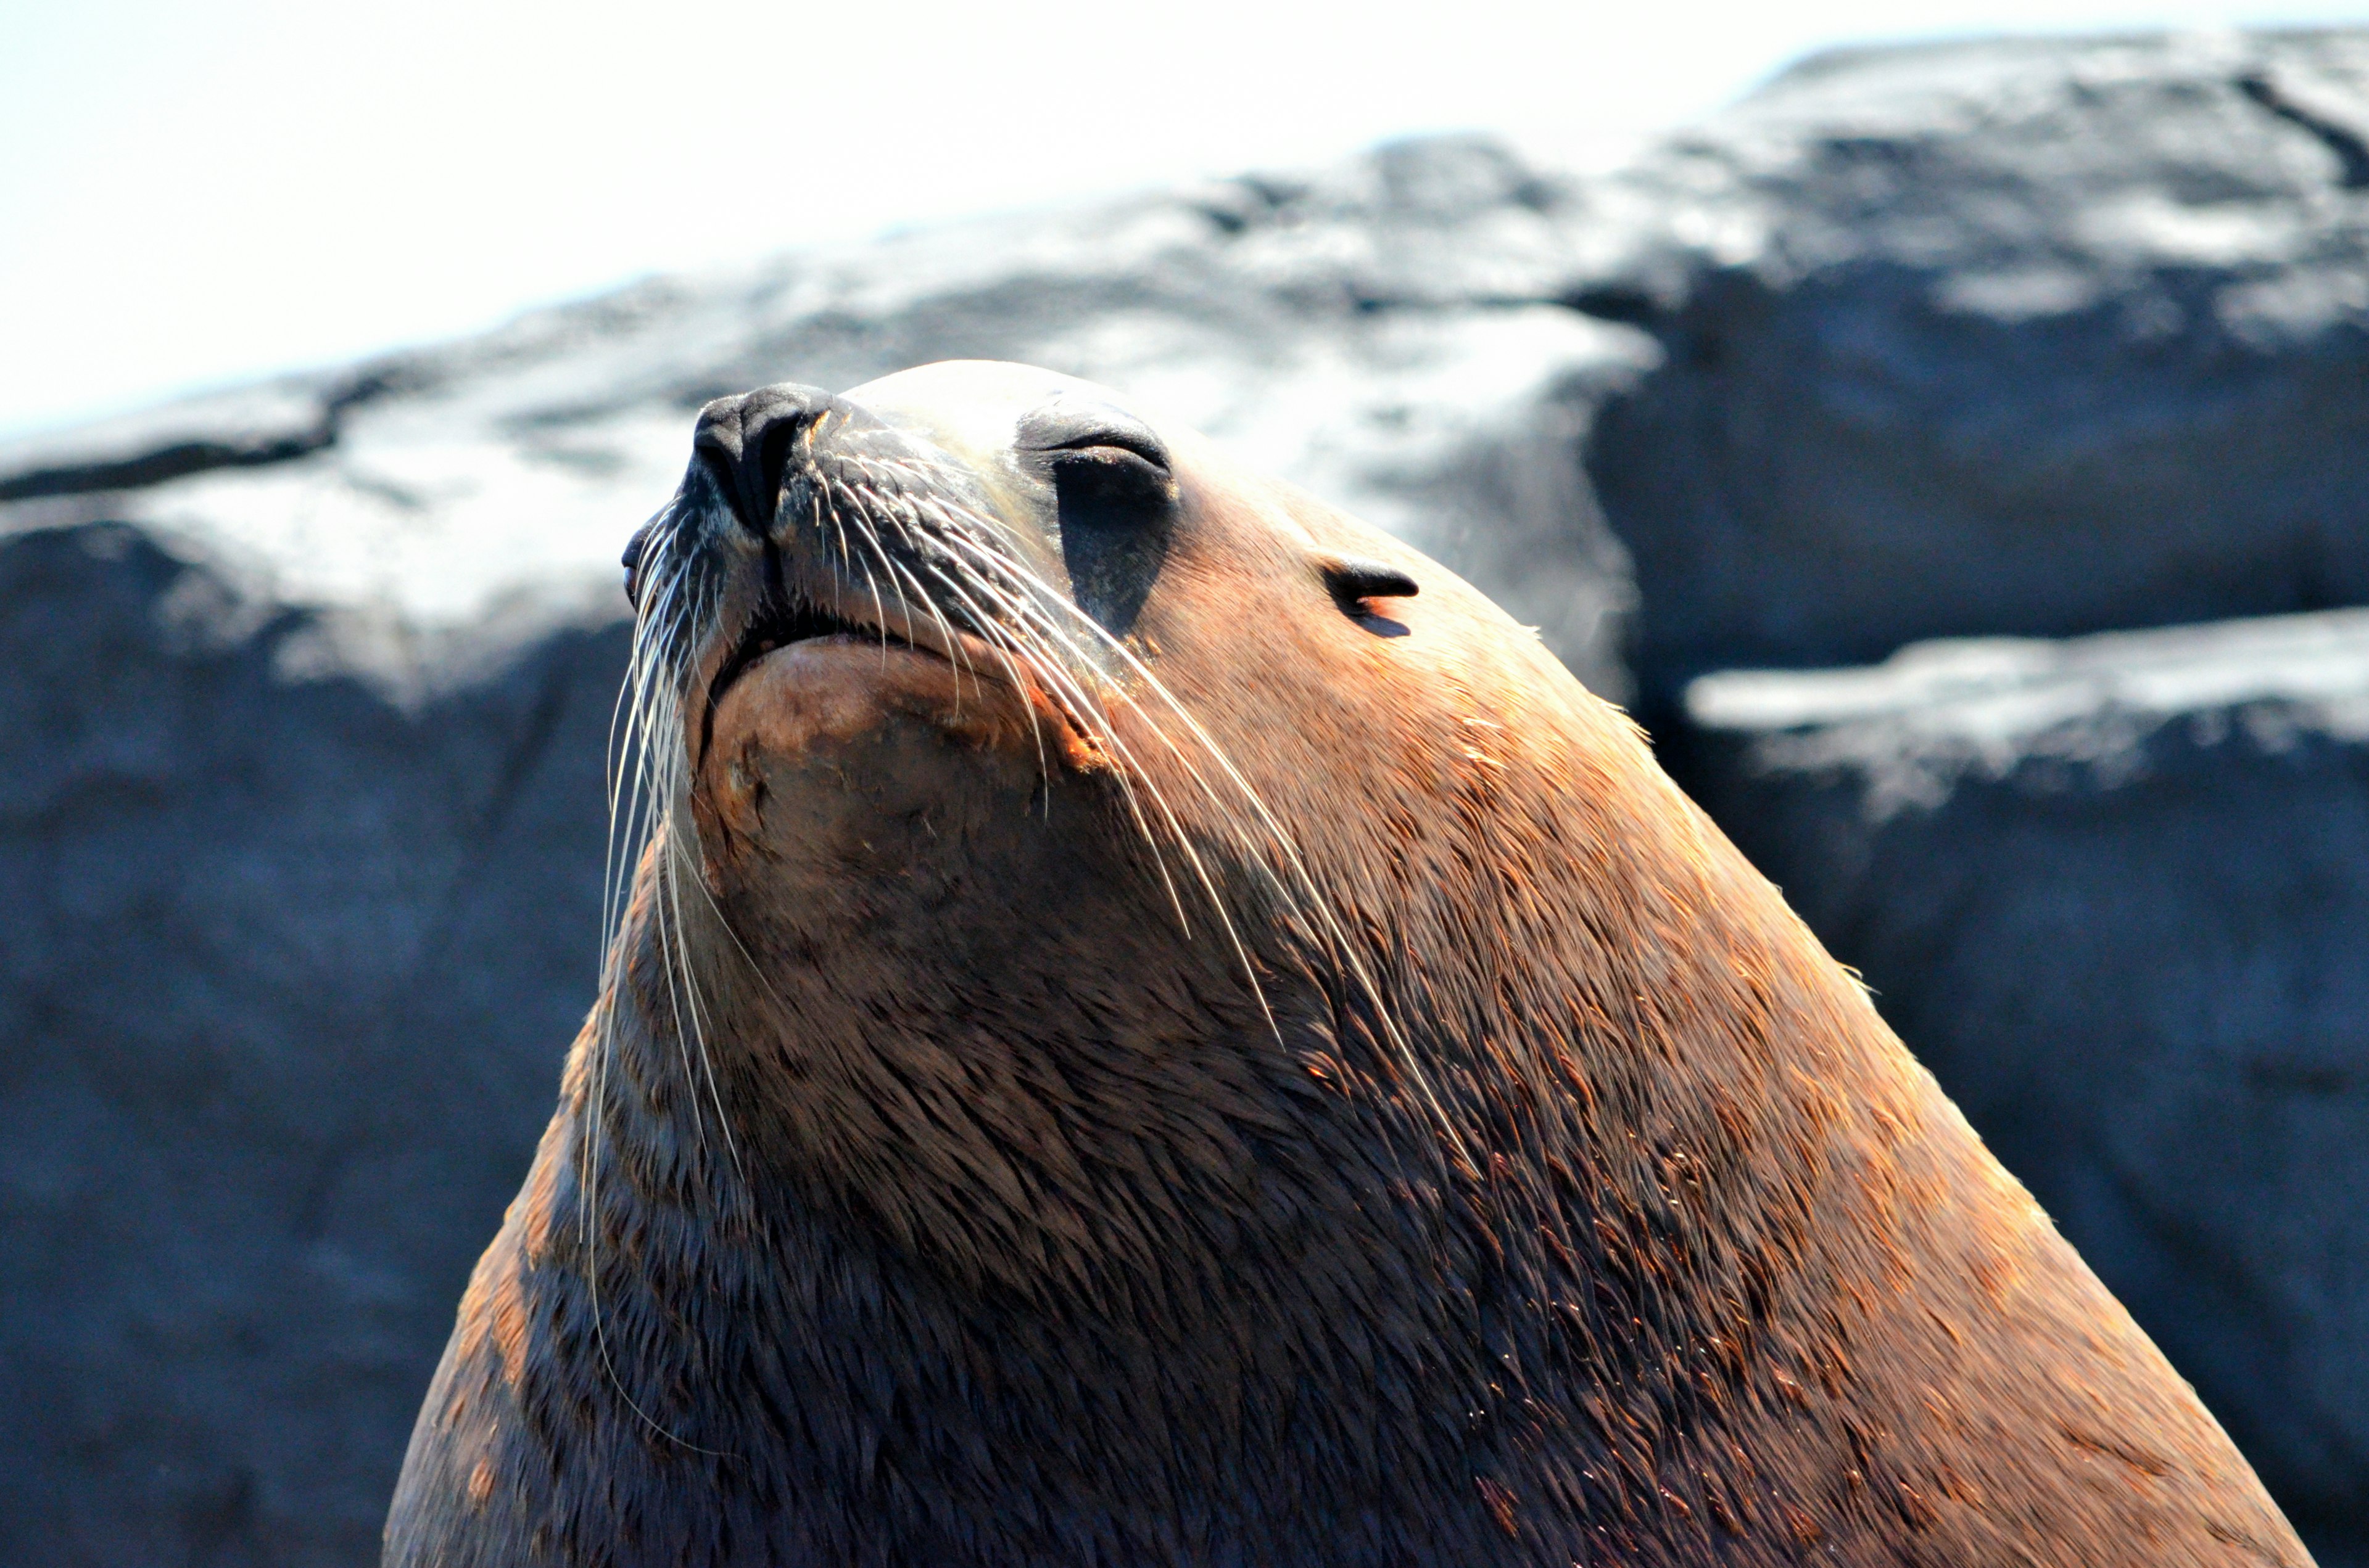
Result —
<path fill-rule="evenodd" d="M 602 580 L 708 396 L 959 355 L 1199 424 L 1654 715 L 2369 602 L 2369 31 L 1845 50 L 1609 178 L 1431 140 L 659 279 L 0 443 L 0 526 L 97 507 L 467 623 Z"/>

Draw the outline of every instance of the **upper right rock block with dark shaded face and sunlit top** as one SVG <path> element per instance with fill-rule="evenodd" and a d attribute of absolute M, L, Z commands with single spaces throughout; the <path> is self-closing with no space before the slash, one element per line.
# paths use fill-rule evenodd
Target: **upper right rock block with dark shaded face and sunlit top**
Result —
<path fill-rule="evenodd" d="M 2369 602 L 2369 31 L 1824 54 L 1620 182 L 1649 703 Z"/>

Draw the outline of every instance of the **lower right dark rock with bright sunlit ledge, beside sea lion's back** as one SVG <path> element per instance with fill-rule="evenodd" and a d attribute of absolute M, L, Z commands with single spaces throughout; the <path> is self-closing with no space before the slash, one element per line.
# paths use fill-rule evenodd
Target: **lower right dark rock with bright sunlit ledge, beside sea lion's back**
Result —
<path fill-rule="evenodd" d="M 1687 784 L 2369 1559 L 2369 611 L 1687 689 Z"/>

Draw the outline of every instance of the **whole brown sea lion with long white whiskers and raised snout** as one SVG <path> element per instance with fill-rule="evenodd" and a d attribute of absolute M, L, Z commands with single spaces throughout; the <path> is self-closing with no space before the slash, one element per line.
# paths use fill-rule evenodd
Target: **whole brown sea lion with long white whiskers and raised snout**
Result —
<path fill-rule="evenodd" d="M 2307 1561 L 1405 545 L 955 362 L 711 403 L 628 592 L 644 848 L 389 1563 Z"/>

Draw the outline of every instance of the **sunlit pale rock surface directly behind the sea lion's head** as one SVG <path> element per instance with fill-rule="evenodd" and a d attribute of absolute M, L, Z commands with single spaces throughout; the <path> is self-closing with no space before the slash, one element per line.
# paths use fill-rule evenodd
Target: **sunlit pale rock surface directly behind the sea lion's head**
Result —
<path fill-rule="evenodd" d="M 1436 140 L 1310 180 L 661 279 L 0 445 L 0 528 L 135 521 L 294 604 L 479 642 L 500 606 L 495 640 L 521 642 L 623 609 L 616 552 L 673 490 L 708 398 L 1009 358 L 1111 381 L 1407 535 L 1625 696 L 1628 561 L 1575 452 L 1594 403 L 1658 351 L 1556 303 L 1592 253 L 1590 211 L 1495 144 Z M 405 687 L 441 651 L 339 656 Z"/>

